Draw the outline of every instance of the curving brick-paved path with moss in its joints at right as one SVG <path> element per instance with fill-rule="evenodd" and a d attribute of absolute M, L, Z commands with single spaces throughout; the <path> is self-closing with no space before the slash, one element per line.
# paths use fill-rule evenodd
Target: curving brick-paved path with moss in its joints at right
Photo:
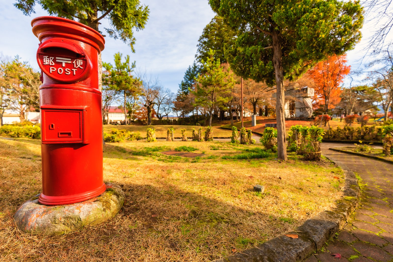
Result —
<path fill-rule="evenodd" d="M 322 154 L 343 162 L 362 178 L 359 207 L 348 225 L 323 251 L 306 262 L 393 262 L 393 165 L 329 148 L 340 144 L 322 143 Z M 331 254 L 340 254 L 335 258 Z"/>

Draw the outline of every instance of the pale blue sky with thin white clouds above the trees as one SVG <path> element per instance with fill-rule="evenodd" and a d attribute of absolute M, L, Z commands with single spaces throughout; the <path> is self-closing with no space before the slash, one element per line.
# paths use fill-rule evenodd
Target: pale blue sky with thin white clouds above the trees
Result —
<path fill-rule="evenodd" d="M 13 6 L 15 0 L 0 0 L 0 56 L 13 58 L 19 55 L 22 61 L 39 69 L 36 62 L 38 39 L 31 32 L 31 19 L 48 15 L 39 6 L 31 17 L 23 15 L 22 11 Z M 204 27 L 214 17 L 208 0 L 140 0 L 149 6 L 149 20 L 144 30 L 134 31 L 136 44 L 135 53 L 121 40 L 105 37 L 105 49 L 102 52 L 104 62 L 113 63 L 113 55 L 117 52 L 130 55 L 131 61 L 136 61 L 138 71 L 146 72 L 152 78 L 158 78 L 165 88 L 176 93 L 178 85 L 184 77 L 184 72 L 195 59 L 196 45 Z M 366 20 L 372 19 L 372 13 L 367 13 Z M 101 20 L 100 30 L 108 27 L 107 20 Z M 365 46 L 376 28 L 373 22 L 366 22 L 362 29 L 362 41 L 354 50 L 347 53 L 348 65 L 352 70 L 359 68 L 360 60 L 364 57 Z M 105 34 L 105 33 L 104 33 Z M 388 35 L 387 42 L 392 35 Z M 364 59 L 363 62 L 367 62 Z M 361 79 L 358 79 L 360 82 Z M 344 84 L 349 83 L 347 78 Z"/>

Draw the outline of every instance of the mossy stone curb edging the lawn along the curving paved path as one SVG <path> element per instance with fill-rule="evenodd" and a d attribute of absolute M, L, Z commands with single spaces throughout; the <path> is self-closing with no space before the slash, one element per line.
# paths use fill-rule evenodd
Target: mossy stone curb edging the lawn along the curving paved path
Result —
<path fill-rule="evenodd" d="M 349 216 L 358 206 L 360 187 L 355 174 L 342 162 L 330 158 L 345 172 L 343 197 L 336 201 L 336 207 L 320 212 L 306 220 L 294 232 L 299 238 L 278 236 L 263 244 L 213 262 L 294 262 L 303 261 L 323 247 L 329 238 L 340 231 Z"/>

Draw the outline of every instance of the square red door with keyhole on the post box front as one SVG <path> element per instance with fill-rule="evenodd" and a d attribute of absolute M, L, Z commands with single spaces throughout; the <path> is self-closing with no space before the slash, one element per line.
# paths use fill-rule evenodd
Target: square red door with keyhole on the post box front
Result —
<path fill-rule="evenodd" d="M 42 144 L 83 143 L 83 112 L 42 109 Z"/>

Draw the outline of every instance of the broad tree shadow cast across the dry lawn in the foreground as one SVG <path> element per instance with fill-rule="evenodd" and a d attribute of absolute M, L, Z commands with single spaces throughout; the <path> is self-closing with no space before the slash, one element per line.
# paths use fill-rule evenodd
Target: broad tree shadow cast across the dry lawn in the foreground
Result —
<path fill-rule="evenodd" d="M 1 140 L 0 146 L 8 148 Z M 25 145 L 20 143 L 20 146 Z M 119 153 L 113 158 L 130 157 L 128 149 L 120 146 L 106 145 L 105 148 L 105 157 L 112 157 L 113 152 Z M 140 150 L 141 154 L 149 156 L 162 148 L 143 150 Z M 22 150 L 15 157 L 21 155 Z M 26 157 L 31 155 L 37 153 L 24 152 Z M 3 253 L 4 261 L 35 260 L 37 257 L 45 261 L 58 258 L 67 261 L 122 261 L 125 257 L 129 261 L 207 261 L 230 255 L 233 247 L 241 251 L 260 244 L 298 223 L 293 218 L 275 215 L 277 212 L 264 212 L 263 205 L 275 201 L 268 194 L 255 193 L 251 189 L 244 192 L 259 206 L 256 211 L 232 204 L 231 201 L 236 202 L 238 193 L 230 190 L 230 183 L 215 181 L 227 194 L 209 196 L 214 193 L 209 192 L 208 187 L 200 187 L 200 193 L 193 187 L 181 188 L 182 185 L 174 185 L 171 180 L 165 179 L 168 172 L 156 169 L 151 171 L 155 178 L 143 181 L 146 184 L 132 183 L 132 177 L 123 177 L 123 174 L 112 177 L 110 182 L 121 185 L 126 195 L 126 203 L 114 219 L 70 234 L 46 236 L 45 241 L 39 241 L 42 236 L 21 234 L 12 223 L 16 208 L 39 187 L 28 183 L 35 178 L 26 169 L 20 172 L 25 176 L 17 179 L 13 175 L 18 176 L 18 173 L 2 176 L 9 186 L 7 196 L 0 198 L 0 210 L 4 214 L 9 213 L 9 216 L 0 223 L 0 250 L 12 250 L 12 253 Z M 226 179 L 230 174 L 222 177 Z M 15 185 L 12 183 L 22 183 L 22 187 L 13 190 Z M 20 238 L 23 238 L 22 244 Z"/>

